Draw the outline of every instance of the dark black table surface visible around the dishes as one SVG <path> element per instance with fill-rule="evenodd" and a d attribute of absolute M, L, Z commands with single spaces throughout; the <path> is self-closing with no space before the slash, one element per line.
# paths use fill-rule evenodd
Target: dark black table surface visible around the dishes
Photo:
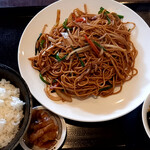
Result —
<path fill-rule="evenodd" d="M 21 34 L 34 15 L 54 1 L 0 0 L 0 63 L 19 72 L 17 50 Z M 150 0 L 118 1 L 137 12 L 150 26 Z M 33 105 L 37 104 L 33 98 Z M 61 149 L 149 150 L 150 139 L 142 124 L 141 110 L 142 105 L 125 116 L 106 122 L 83 123 L 65 119 L 67 135 Z M 15 149 L 21 149 L 20 145 Z"/>

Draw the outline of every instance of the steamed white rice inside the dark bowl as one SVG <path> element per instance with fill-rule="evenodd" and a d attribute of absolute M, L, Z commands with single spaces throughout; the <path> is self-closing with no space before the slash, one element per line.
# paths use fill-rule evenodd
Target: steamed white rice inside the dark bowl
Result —
<path fill-rule="evenodd" d="M 5 79 L 0 81 L 0 148 L 6 146 L 19 129 L 24 105 L 19 96 L 19 88 Z"/>

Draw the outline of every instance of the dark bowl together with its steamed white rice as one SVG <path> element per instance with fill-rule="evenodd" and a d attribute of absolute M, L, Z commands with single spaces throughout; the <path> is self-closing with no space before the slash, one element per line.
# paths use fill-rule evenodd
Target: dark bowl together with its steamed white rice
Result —
<path fill-rule="evenodd" d="M 0 149 L 14 149 L 31 119 L 32 98 L 23 78 L 0 64 Z"/>

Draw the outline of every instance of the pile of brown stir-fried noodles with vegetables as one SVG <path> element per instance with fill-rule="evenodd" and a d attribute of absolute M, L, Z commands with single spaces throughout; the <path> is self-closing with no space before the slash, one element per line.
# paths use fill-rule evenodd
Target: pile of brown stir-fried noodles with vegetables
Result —
<path fill-rule="evenodd" d="M 36 55 L 29 58 L 46 83 L 50 99 L 72 101 L 72 97 L 116 94 L 138 73 L 134 67 L 137 50 L 130 40 L 136 25 L 122 18 L 102 7 L 98 14 L 89 14 L 84 5 L 84 12 L 74 9 L 60 24 L 57 11 L 56 24 L 50 33 L 45 33 L 44 26 Z"/>

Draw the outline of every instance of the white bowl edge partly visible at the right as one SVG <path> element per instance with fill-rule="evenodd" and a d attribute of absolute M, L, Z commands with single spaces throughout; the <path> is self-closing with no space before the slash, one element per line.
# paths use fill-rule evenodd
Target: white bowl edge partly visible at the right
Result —
<path fill-rule="evenodd" d="M 150 138 L 150 127 L 147 121 L 147 112 L 149 108 L 150 108 L 150 93 L 148 94 L 142 106 L 142 122 L 143 122 L 144 129 L 148 137 Z"/>

